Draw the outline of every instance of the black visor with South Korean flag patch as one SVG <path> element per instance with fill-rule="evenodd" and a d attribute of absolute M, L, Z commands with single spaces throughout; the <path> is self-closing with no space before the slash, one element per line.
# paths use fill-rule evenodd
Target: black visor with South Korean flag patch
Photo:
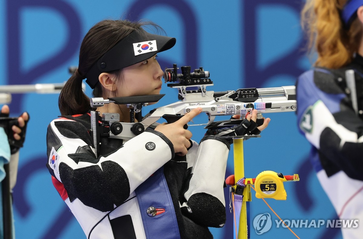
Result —
<path fill-rule="evenodd" d="M 173 37 L 133 31 L 91 67 L 86 74 L 86 83 L 94 89 L 102 72 L 118 70 L 147 60 L 158 52 L 172 48 L 175 42 Z"/>

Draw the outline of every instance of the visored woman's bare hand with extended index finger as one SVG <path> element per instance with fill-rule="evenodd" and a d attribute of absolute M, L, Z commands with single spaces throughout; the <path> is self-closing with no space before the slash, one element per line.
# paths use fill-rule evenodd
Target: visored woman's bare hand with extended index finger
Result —
<path fill-rule="evenodd" d="M 173 144 L 174 152 L 179 153 L 178 155 L 184 156 L 188 153 L 187 148 L 191 146 L 190 139 L 192 138 L 192 132 L 185 130 L 183 127 L 195 116 L 199 115 L 202 108 L 198 107 L 187 113 L 179 120 L 174 123 L 159 124 L 155 130 L 165 135 Z"/>

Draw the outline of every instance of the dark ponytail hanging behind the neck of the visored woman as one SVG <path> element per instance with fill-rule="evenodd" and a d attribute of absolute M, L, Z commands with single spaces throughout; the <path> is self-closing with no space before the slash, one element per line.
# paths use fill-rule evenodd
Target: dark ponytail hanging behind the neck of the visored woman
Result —
<path fill-rule="evenodd" d="M 89 97 L 82 90 L 83 79 L 77 69 L 65 83 L 58 99 L 61 115 L 83 114 L 91 109 Z"/>

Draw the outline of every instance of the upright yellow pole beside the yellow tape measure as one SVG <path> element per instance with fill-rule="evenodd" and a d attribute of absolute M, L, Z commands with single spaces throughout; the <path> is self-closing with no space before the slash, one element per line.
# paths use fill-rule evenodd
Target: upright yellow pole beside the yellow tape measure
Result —
<path fill-rule="evenodd" d="M 243 160 L 243 139 L 233 139 L 233 156 L 234 156 L 234 183 L 244 177 L 244 160 Z M 246 202 L 251 201 L 250 187 L 247 186 L 243 192 L 243 200 L 240 214 L 240 224 L 238 226 L 238 239 L 247 238 L 247 210 Z M 238 212 L 236 212 L 238 214 Z"/>

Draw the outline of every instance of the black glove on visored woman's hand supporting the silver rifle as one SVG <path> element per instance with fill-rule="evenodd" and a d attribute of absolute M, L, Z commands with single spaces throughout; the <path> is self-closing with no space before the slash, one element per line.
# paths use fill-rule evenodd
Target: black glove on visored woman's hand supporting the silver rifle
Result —
<path fill-rule="evenodd" d="M 220 128 L 220 129 L 209 129 L 205 136 L 214 135 L 217 137 L 223 136 L 242 136 L 242 135 L 258 135 L 261 131 L 258 130 L 256 122 L 253 120 L 248 121 L 244 119 L 237 126 Z M 225 138 L 229 144 L 233 143 L 233 138 Z"/>

